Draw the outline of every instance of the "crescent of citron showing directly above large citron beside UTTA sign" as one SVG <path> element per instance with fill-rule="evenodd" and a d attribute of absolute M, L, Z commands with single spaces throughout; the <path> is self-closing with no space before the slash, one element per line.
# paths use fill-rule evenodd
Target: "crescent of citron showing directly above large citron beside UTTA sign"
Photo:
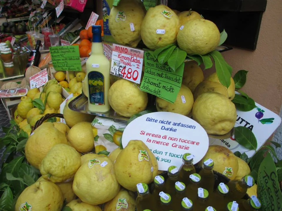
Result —
<path fill-rule="evenodd" d="M 225 86 L 218 82 L 204 80 L 199 83 L 196 89 L 194 90 L 194 99 L 196 100 L 199 95 L 208 91 L 220 93 L 228 98 L 228 92 Z"/>

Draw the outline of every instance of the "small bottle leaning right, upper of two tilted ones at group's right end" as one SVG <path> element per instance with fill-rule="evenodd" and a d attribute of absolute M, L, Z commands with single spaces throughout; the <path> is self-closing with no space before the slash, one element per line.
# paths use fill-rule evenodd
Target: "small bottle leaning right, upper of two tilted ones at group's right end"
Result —
<path fill-rule="evenodd" d="M 239 180 L 231 180 L 227 183 L 229 187 L 228 198 L 230 201 L 237 201 L 243 198 L 248 188 L 251 188 L 255 184 L 255 180 L 251 175 L 246 175 Z"/>

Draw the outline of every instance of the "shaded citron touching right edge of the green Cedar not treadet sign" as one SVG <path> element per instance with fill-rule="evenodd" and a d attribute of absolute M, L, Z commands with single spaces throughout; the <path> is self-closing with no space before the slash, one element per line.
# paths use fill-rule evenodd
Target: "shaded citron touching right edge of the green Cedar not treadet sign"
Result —
<path fill-rule="evenodd" d="M 185 62 L 182 84 L 194 92 L 196 86 L 204 80 L 202 69 L 195 62 Z"/>

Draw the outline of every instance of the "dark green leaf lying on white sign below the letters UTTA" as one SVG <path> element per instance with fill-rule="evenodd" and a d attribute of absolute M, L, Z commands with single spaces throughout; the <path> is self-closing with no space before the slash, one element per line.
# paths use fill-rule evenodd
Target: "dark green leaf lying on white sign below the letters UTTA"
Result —
<path fill-rule="evenodd" d="M 254 149 L 258 147 L 258 142 L 256 140 L 256 137 L 254 133 L 243 126 L 238 126 L 234 128 L 234 135 L 236 141 L 241 144 L 243 147 L 246 147 L 247 149 Z"/>

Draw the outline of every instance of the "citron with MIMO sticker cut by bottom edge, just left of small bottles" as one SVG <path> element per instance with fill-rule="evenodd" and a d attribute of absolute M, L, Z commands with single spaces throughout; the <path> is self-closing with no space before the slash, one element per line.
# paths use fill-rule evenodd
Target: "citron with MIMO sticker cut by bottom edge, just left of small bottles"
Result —
<path fill-rule="evenodd" d="M 120 190 L 115 198 L 105 203 L 103 211 L 135 211 L 136 201 L 127 190 Z"/>

